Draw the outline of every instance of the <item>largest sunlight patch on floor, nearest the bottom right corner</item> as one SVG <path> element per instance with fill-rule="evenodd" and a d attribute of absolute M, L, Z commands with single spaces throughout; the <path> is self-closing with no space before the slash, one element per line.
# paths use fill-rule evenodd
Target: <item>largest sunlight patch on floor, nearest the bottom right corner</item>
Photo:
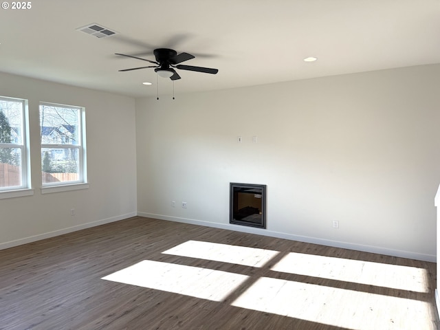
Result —
<path fill-rule="evenodd" d="M 232 306 L 344 329 L 432 329 L 430 304 L 278 278 L 259 278 Z"/>

